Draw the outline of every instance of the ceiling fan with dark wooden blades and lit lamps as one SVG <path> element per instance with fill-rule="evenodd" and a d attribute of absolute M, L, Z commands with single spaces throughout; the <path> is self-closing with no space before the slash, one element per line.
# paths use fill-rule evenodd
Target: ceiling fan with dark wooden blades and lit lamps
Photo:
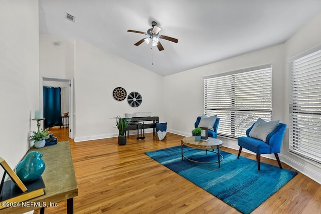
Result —
<path fill-rule="evenodd" d="M 134 45 L 138 46 L 141 43 L 145 42 L 147 44 L 149 44 L 149 42 L 151 42 L 152 46 L 157 46 L 159 51 L 163 51 L 164 48 L 161 44 L 161 42 L 159 42 L 159 39 L 163 39 L 163 40 L 168 40 L 171 42 L 175 42 L 178 43 L 178 39 L 175 39 L 173 37 L 168 37 L 168 36 L 164 36 L 164 35 L 159 35 L 159 31 L 162 30 L 162 28 L 159 28 L 157 26 L 156 22 L 151 22 L 151 27 L 150 29 L 147 30 L 147 32 L 141 32 L 141 31 L 134 31 L 134 30 L 128 30 L 127 32 L 132 32 L 132 33 L 138 33 L 138 34 L 144 34 L 147 35 L 146 38 L 139 40 L 138 42 L 136 42 Z"/>

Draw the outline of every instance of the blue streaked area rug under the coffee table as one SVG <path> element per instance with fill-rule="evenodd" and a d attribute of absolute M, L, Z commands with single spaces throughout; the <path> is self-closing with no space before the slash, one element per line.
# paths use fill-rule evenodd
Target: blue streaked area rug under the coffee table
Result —
<path fill-rule="evenodd" d="M 183 148 L 183 151 L 191 148 Z M 280 169 L 262 163 L 257 170 L 257 162 L 245 157 L 220 152 L 224 159 L 221 168 L 217 163 L 194 163 L 182 160 L 181 146 L 156 151 L 147 151 L 146 155 L 175 171 L 189 181 L 210 192 L 224 202 L 243 213 L 250 213 L 267 198 L 279 190 L 297 172 Z M 217 160 L 217 154 L 205 151 L 190 151 L 185 155 L 198 161 Z"/>

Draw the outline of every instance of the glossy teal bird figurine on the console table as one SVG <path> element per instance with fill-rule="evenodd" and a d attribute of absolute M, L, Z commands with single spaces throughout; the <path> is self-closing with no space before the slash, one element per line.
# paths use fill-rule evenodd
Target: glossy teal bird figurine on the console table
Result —
<path fill-rule="evenodd" d="M 37 180 L 45 171 L 45 162 L 41 157 L 43 154 L 38 151 L 31 151 L 18 163 L 16 174 L 23 182 Z"/>

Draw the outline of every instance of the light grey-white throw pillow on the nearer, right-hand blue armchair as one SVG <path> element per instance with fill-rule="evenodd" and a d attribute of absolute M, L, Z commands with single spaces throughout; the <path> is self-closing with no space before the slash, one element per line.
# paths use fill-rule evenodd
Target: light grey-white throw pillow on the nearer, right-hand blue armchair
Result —
<path fill-rule="evenodd" d="M 259 118 L 251 129 L 249 136 L 266 142 L 267 135 L 279 125 L 279 122 L 279 120 L 266 122 Z"/>

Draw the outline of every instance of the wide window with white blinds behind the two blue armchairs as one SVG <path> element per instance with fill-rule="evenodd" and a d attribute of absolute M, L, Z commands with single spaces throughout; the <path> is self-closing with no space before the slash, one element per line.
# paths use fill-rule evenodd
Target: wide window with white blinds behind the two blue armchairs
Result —
<path fill-rule="evenodd" d="M 204 78 L 204 113 L 220 118 L 218 134 L 237 138 L 259 117 L 271 120 L 272 65 Z"/>

